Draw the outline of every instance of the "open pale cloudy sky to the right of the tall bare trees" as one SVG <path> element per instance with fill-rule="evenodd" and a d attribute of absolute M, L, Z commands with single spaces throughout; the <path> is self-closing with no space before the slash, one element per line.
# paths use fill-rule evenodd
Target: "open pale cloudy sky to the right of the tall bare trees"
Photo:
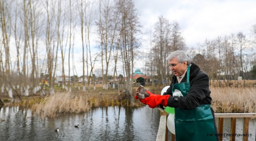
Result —
<path fill-rule="evenodd" d="M 242 31 L 256 24 L 256 0 L 135 0 L 143 27 L 163 15 L 182 28 L 187 47 Z"/>

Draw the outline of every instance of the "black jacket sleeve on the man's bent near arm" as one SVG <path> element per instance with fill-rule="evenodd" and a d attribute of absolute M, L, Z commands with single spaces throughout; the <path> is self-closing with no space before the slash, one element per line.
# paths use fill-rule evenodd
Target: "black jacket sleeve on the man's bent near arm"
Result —
<path fill-rule="evenodd" d="M 205 72 L 198 72 L 192 81 L 187 95 L 185 97 L 170 96 L 167 106 L 181 108 L 183 110 L 191 110 L 198 107 L 202 99 L 211 93 L 209 89 L 209 77 Z"/>

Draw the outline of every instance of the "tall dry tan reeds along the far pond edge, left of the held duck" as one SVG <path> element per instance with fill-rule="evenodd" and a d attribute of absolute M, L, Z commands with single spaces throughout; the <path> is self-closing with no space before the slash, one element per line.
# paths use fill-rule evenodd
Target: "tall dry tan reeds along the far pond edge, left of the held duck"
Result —
<path fill-rule="evenodd" d="M 24 99 L 22 102 L 13 103 L 14 106 L 31 108 L 42 117 L 57 117 L 65 113 L 86 112 L 94 107 L 130 106 L 127 99 L 118 101 L 117 94 L 84 94 L 71 92 L 56 92 L 55 94 L 39 98 Z M 137 100 L 135 107 L 141 106 Z"/>

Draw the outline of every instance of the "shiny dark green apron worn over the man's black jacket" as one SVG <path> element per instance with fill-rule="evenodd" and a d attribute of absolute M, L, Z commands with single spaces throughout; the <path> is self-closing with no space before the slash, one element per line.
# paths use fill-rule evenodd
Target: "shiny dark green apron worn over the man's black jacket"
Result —
<path fill-rule="evenodd" d="M 173 84 L 173 96 L 187 95 L 190 89 L 189 72 L 190 65 L 187 67 L 187 82 Z M 216 141 L 210 105 L 199 105 L 192 110 L 174 110 L 176 141 Z"/>

